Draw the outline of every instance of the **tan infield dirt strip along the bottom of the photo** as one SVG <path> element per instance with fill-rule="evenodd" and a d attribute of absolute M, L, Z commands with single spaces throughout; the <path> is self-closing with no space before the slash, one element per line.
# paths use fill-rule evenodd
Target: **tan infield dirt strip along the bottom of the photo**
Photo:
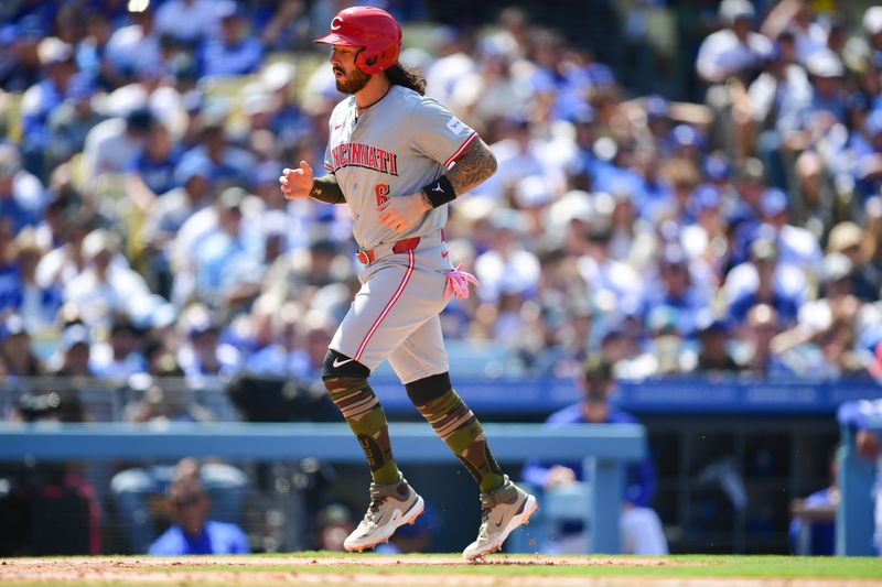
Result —
<path fill-rule="evenodd" d="M 882 580 L 653 576 L 662 558 L 497 555 L 478 563 L 459 556 L 88 557 L 0 561 L 2 585 L 358 585 L 426 587 L 879 587 Z M 697 567 L 699 565 L 691 565 Z M 571 568 L 567 568 L 571 567 Z M 592 573 L 582 574 L 579 568 Z M 645 569 L 603 576 L 603 569 Z M 507 569 L 517 574 L 506 574 Z M 551 572 L 555 572 L 553 574 Z M 684 570 L 686 570 L 684 568 Z M 498 572 L 498 573 L 497 573 Z"/>

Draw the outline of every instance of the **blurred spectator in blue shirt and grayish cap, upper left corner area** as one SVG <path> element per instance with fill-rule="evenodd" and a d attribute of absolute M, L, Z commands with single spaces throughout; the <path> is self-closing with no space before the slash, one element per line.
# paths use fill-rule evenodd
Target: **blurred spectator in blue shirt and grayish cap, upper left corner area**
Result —
<path fill-rule="evenodd" d="M 46 122 L 62 102 L 71 77 L 76 73 L 73 47 L 55 36 L 43 39 L 36 47 L 45 77 L 28 88 L 21 100 L 24 167 L 43 178 L 43 150 L 49 144 Z"/>

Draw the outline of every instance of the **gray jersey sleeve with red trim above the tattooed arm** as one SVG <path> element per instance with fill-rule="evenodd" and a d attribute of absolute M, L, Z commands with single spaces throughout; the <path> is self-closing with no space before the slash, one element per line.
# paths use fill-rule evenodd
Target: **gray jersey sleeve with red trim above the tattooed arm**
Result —
<path fill-rule="evenodd" d="M 410 113 L 411 146 L 449 167 L 477 133 L 431 98 L 423 98 Z"/>

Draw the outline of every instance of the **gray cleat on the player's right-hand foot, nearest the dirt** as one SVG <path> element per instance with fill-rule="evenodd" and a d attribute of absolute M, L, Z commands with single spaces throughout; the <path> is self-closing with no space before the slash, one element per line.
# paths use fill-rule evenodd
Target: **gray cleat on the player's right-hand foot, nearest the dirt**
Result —
<path fill-rule="evenodd" d="M 499 489 L 481 493 L 481 529 L 477 540 L 462 552 L 463 558 L 474 561 L 498 551 L 508 534 L 528 523 L 538 509 L 536 498 L 513 483 L 506 475 Z"/>

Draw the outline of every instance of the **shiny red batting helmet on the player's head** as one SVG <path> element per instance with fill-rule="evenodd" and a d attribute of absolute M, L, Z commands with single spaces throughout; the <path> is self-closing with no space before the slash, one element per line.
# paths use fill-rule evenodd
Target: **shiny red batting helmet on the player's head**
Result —
<path fill-rule="evenodd" d="M 378 74 L 398 63 L 401 28 L 385 10 L 352 7 L 337 12 L 331 32 L 315 43 L 363 47 L 355 56 L 355 66 L 368 75 Z"/>

